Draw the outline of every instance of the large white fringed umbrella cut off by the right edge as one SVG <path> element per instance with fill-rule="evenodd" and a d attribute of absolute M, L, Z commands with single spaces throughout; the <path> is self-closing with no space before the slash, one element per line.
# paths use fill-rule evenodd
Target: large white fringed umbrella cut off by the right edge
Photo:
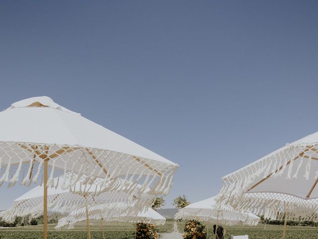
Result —
<path fill-rule="evenodd" d="M 248 155 L 248 154 L 246 154 Z M 222 178 L 218 201 L 271 219 L 317 221 L 318 132 Z"/>

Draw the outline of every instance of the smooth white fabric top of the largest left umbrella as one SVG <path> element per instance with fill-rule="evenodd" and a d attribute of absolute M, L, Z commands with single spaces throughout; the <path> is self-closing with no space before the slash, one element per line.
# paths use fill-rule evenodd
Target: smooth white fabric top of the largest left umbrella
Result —
<path fill-rule="evenodd" d="M 46 107 L 27 107 L 35 103 Z M 0 132 L 0 139 L 4 142 L 82 145 L 174 164 L 80 114 L 59 106 L 49 97 L 33 97 L 13 103 L 0 113 Z"/>

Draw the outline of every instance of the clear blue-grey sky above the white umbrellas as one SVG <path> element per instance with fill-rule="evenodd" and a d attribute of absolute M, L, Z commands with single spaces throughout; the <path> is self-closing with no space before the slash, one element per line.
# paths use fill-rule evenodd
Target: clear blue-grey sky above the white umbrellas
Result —
<path fill-rule="evenodd" d="M 1 0 L 0 109 L 33 96 L 180 165 L 166 207 L 318 131 L 316 0 Z M 0 209 L 29 190 L 0 188 Z M 5 196 L 4 196 L 5 195 Z"/>

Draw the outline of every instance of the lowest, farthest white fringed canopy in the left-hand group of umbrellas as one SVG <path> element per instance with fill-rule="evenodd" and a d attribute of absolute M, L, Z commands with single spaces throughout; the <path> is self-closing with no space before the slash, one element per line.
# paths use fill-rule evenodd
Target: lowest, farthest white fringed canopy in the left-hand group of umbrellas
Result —
<path fill-rule="evenodd" d="M 129 210 L 133 207 L 133 205 L 121 204 L 119 207 L 126 208 L 126 212 L 122 213 L 119 216 L 109 216 L 106 212 L 112 208 L 112 205 L 97 205 L 88 209 L 89 220 L 99 220 L 103 219 L 106 222 L 125 222 L 125 223 L 148 223 L 155 225 L 164 225 L 165 218 L 162 217 L 159 213 L 157 213 L 152 208 L 147 208 L 144 211 L 135 212 Z M 104 216 L 106 212 L 106 217 Z M 81 216 L 79 216 L 81 215 Z M 61 218 L 56 226 L 56 229 L 67 228 L 71 229 L 74 227 L 75 223 L 85 221 L 85 209 L 82 208 L 78 211 L 74 211 L 70 213 L 67 217 Z"/>

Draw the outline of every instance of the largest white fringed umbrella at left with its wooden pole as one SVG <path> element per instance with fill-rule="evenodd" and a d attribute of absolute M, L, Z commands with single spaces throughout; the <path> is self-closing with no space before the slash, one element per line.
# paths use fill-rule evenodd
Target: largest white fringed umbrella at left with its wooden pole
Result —
<path fill-rule="evenodd" d="M 7 182 L 8 186 L 19 179 L 24 185 L 36 183 L 43 175 L 44 239 L 47 187 L 53 186 L 55 176 L 69 178 L 62 182 L 63 189 L 71 188 L 85 175 L 82 192 L 94 184 L 98 194 L 121 177 L 132 185 L 142 185 L 141 191 L 150 189 L 150 194 L 165 195 L 178 167 L 48 97 L 22 100 L 0 113 L 0 165 L 0 184 Z M 133 191 L 134 187 L 127 190 Z"/>

